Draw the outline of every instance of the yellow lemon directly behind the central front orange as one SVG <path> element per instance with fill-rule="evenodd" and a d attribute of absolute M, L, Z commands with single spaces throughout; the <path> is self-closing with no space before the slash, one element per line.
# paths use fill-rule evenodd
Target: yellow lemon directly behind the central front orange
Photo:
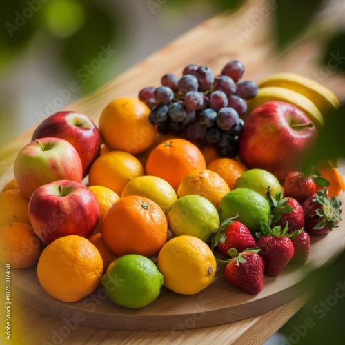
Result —
<path fill-rule="evenodd" d="M 122 190 L 121 197 L 128 195 L 139 195 L 155 201 L 165 215 L 169 207 L 177 200 L 175 189 L 165 179 L 150 175 L 135 177 L 129 181 Z"/>

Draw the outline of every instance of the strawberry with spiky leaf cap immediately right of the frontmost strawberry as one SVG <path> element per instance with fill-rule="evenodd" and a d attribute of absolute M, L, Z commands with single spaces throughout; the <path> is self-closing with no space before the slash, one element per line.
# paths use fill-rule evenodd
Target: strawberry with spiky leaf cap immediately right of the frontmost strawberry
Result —
<path fill-rule="evenodd" d="M 261 223 L 261 233 L 257 233 L 259 241 L 257 246 L 261 249 L 260 255 L 264 259 L 265 273 L 276 277 L 284 270 L 285 266 L 293 258 L 295 249 L 289 237 L 295 237 L 302 230 L 288 234 L 288 224 L 281 230 L 280 226 L 272 229 Z"/>

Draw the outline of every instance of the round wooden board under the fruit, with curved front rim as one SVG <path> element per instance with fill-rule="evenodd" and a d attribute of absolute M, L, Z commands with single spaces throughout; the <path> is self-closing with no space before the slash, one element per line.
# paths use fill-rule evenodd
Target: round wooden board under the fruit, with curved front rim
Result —
<path fill-rule="evenodd" d="M 341 196 L 344 201 L 344 193 Z M 162 288 L 159 297 L 145 308 L 117 306 L 102 286 L 79 302 L 65 303 L 46 293 L 36 275 L 36 266 L 12 270 L 14 297 L 28 306 L 66 322 L 122 331 L 176 331 L 235 322 L 271 311 L 311 288 L 306 273 L 322 266 L 345 248 L 345 224 L 328 235 L 313 235 L 311 256 L 303 266 L 288 265 L 278 277 L 264 277 L 264 288 L 256 296 L 230 285 L 224 266 L 215 279 L 196 295 L 179 295 Z M 322 253 L 322 255 L 320 255 Z M 2 270 L 4 272 L 4 270 Z"/>

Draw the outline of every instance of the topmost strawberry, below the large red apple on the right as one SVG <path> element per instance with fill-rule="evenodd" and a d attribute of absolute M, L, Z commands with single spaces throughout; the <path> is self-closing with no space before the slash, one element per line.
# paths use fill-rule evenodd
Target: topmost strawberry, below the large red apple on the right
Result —
<path fill-rule="evenodd" d="M 320 187 L 329 186 L 329 182 L 320 177 L 316 166 L 303 167 L 302 171 L 291 171 L 284 181 L 284 197 L 293 197 L 299 204 L 311 197 Z"/>

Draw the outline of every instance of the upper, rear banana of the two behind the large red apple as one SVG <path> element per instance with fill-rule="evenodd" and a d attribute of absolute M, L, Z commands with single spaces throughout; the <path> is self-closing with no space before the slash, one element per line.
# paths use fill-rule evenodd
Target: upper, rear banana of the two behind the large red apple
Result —
<path fill-rule="evenodd" d="M 259 83 L 259 88 L 278 86 L 299 92 L 310 99 L 322 115 L 339 108 L 337 96 L 326 86 L 302 75 L 291 72 L 281 72 L 270 75 Z"/>

